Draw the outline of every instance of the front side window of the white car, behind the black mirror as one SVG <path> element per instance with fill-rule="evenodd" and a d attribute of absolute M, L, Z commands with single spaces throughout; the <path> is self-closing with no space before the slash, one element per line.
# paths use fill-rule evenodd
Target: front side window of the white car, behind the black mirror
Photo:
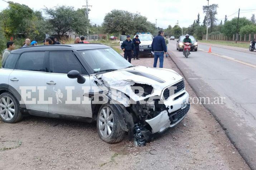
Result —
<path fill-rule="evenodd" d="M 49 63 L 50 73 L 67 74 L 71 70 L 77 70 L 80 74 L 86 74 L 72 52 L 50 52 Z"/>

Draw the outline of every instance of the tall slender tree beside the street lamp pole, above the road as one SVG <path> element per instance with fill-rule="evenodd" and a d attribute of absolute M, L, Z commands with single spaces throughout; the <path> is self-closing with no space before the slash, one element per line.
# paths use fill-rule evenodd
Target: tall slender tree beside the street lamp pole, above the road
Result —
<path fill-rule="evenodd" d="M 216 14 L 217 14 L 218 4 L 209 5 L 209 7 L 203 7 L 203 12 L 207 14 L 208 12 L 208 22 L 210 24 L 210 32 L 212 32 L 213 27 L 217 21 Z M 208 11 L 209 10 L 209 11 Z"/>

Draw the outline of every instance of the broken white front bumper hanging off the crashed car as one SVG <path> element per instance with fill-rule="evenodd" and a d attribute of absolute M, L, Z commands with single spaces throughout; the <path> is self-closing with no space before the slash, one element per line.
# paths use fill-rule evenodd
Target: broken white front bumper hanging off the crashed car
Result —
<path fill-rule="evenodd" d="M 187 102 L 189 94 L 186 91 L 183 93 L 185 94 L 177 100 L 172 97 L 165 101 L 165 105 L 169 107 L 168 110 L 163 110 L 156 117 L 145 120 L 152 129 L 151 133 L 161 133 L 165 129 L 174 127 L 186 116 L 190 108 L 190 104 Z"/>

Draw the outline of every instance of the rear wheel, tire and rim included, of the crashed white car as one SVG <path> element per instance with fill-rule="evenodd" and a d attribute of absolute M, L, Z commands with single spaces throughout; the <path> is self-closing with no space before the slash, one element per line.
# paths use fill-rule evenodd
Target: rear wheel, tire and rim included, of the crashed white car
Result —
<path fill-rule="evenodd" d="M 5 123 L 16 123 L 22 119 L 20 104 L 9 92 L 0 95 L 0 118 Z"/>

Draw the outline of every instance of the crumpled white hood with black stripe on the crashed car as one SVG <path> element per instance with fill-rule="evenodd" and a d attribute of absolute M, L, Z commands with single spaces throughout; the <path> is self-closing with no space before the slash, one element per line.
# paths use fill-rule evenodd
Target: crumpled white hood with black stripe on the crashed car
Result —
<path fill-rule="evenodd" d="M 153 93 L 145 97 L 138 95 L 129 95 L 134 101 L 140 101 L 151 96 L 160 96 L 162 90 L 178 81 L 182 76 L 172 69 L 150 68 L 145 66 L 136 66 L 117 71 L 112 71 L 96 76 L 101 78 L 105 86 L 117 89 L 123 93 L 131 90 L 135 83 L 148 84 L 154 88 Z"/>

